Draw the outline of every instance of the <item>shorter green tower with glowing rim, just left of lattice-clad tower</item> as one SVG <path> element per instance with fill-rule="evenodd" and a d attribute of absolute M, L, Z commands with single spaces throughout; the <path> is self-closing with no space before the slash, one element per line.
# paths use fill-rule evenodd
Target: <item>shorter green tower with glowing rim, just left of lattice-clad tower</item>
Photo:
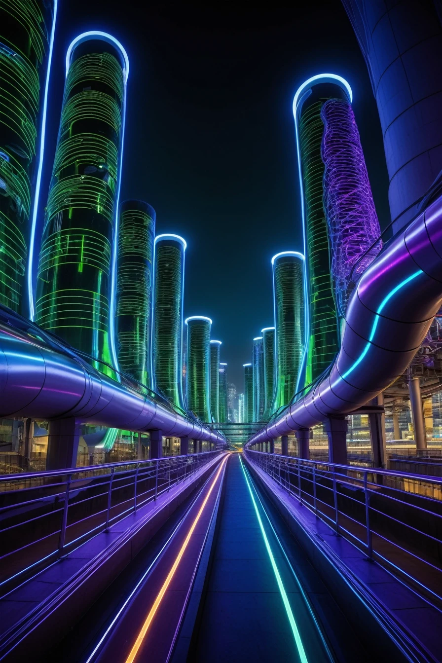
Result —
<path fill-rule="evenodd" d="M 275 392 L 272 414 L 296 393 L 305 342 L 304 256 L 284 251 L 272 258 L 275 318 Z"/>

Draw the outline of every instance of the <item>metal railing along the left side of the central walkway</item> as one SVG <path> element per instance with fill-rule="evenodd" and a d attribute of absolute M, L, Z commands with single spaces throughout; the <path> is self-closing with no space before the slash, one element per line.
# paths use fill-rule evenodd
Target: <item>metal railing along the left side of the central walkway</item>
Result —
<path fill-rule="evenodd" d="M 170 491 L 219 453 L 0 477 L 0 594 Z"/>

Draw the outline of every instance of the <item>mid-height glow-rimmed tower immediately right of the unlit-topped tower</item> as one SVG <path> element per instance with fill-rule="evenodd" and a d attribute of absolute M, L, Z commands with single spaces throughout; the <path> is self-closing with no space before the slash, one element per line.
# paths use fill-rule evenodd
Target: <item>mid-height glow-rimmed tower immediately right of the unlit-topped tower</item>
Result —
<path fill-rule="evenodd" d="M 186 242 L 178 235 L 154 241 L 152 367 L 154 389 L 184 410 L 182 326 Z"/>

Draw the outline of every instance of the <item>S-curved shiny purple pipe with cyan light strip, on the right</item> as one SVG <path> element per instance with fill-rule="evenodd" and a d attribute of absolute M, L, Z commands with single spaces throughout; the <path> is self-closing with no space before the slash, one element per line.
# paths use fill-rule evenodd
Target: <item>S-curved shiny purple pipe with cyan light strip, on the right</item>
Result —
<path fill-rule="evenodd" d="M 328 375 L 246 446 L 343 416 L 410 365 L 441 306 L 442 197 L 392 239 L 362 274 Z"/>

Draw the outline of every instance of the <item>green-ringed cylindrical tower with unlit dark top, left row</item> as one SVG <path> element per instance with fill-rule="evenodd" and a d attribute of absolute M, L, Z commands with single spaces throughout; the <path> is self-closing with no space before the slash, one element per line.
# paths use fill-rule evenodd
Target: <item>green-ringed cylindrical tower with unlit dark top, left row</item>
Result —
<path fill-rule="evenodd" d="M 155 210 L 140 200 L 120 206 L 117 259 L 118 363 L 146 387 L 151 385 L 150 331 Z"/>

